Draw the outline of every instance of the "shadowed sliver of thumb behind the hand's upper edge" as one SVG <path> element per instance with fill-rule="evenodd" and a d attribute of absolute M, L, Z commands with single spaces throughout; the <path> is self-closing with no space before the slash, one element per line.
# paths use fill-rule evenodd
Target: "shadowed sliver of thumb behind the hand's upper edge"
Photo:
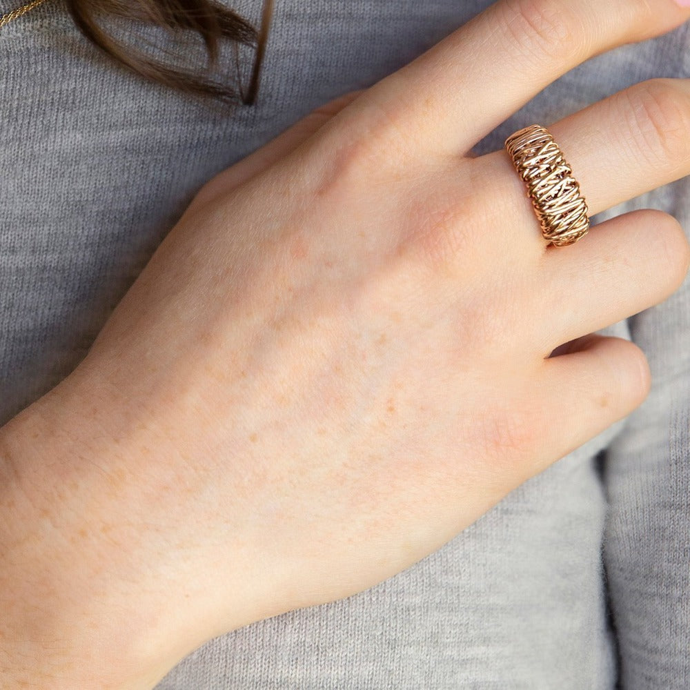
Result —
<path fill-rule="evenodd" d="M 233 188 L 243 184 L 259 172 L 266 170 L 279 159 L 292 152 L 317 132 L 328 120 L 337 115 L 340 110 L 354 101 L 364 90 L 351 91 L 328 101 L 324 106 L 310 112 L 289 129 L 282 132 L 268 144 L 255 150 L 252 154 L 239 161 L 230 168 L 226 168 L 212 177 L 197 192 L 193 204 L 206 204 L 221 193 L 228 193 Z M 190 205 L 191 206 L 191 205 Z M 190 207 L 188 207 L 189 210 Z"/>

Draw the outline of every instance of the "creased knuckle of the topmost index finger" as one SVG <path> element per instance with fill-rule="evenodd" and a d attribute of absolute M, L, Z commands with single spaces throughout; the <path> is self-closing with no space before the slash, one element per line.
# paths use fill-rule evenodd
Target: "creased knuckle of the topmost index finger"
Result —
<path fill-rule="evenodd" d="M 562 58 L 578 52 L 586 32 L 582 18 L 567 3 L 553 0 L 508 0 L 506 27 L 509 39 L 525 52 L 530 63 Z"/>

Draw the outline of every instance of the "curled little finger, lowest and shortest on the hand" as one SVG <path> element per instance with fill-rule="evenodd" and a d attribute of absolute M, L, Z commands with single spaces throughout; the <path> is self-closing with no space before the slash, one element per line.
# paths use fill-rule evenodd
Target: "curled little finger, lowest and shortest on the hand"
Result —
<path fill-rule="evenodd" d="M 649 393 L 649 365 L 638 346 L 596 334 L 581 345 L 579 351 L 545 359 L 535 380 L 544 422 L 538 470 L 621 420 Z"/>

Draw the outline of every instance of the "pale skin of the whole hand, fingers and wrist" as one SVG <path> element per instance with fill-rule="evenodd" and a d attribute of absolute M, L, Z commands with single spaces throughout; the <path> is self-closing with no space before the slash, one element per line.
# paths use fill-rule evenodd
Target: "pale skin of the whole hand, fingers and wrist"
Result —
<path fill-rule="evenodd" d="M 506 153 L 469 150 L 688 17 L 501 0 L 201 188 L 86 359 L 0 430 L 3 688 L 150 688 L 402 571 L 640 405 L 644 354 L 589 334 L 680 286 L 678 222 L 546 248 Z M 542 124 L 592 215 L 690 173 L 688 80 Z"/>

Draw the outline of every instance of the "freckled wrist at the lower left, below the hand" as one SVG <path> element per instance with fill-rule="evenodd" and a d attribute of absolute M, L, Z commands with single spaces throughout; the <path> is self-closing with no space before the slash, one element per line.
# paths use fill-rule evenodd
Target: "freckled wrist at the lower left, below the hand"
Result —
<path fill-rule="evenodd" d="M 150 688 L 196 640 L 166 616 L 115 455 L 94 457 L 65 391 L 0 428 L 3 689 Z"/>

